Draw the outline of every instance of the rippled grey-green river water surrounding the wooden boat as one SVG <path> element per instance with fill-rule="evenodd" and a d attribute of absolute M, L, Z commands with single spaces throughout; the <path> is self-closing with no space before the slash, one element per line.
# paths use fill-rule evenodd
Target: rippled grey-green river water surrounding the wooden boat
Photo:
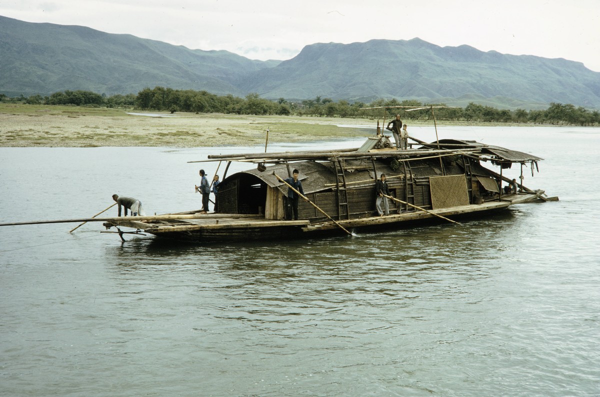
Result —
<path fill-rule="evenodd" d="M 599 395 L 600 130 L 440 128 L 450 137 L 545 158 L 524 184 L 560 201 L 286 243 L 0 227 L 0 395 Z M 86 218 L 114 193 L 197 209 L 197 170 L 218 163 L 187 161 L 262 150 L 0 148 L 0 222 Z"/>

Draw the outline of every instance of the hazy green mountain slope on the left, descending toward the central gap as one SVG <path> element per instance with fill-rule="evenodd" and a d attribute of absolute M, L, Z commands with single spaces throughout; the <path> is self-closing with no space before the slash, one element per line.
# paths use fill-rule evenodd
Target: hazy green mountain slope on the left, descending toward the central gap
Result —
<path fill-rule="evenodd" d="M 0 16 L 0 92 L 48 95 L 86 90 L 137 94 L 145 87 L 243 95 L 240 74 L 277 65 L 227 51 L 190 50 L 84 26 L 30 23 Z"/>

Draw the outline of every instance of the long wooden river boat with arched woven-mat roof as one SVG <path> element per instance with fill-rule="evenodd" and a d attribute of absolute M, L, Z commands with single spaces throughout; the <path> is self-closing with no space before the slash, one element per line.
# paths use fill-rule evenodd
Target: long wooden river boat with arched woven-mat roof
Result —
<path fill-rule="evenodd" d="M 106 218 L 104 225 L 188 242 L 272 241 L 456 221 L 513 204 L 557 200 L 503 175 L 503 170 L 516 164 L 523 181 L 523 167 L 535 172 L 542 160 L 539 157 L 473 141 L 411 139 L 415 147 L 395 150 L 389 137 L 378 131 L 358 149 L 209 155 L 202 162 L 226 161 L 225 173 L 233 161 L 256 164 L 224 175 L 217 212 Z M 484 163 L 493 164 L 499 172 Z M 293 169 L 299 170 L 307 199 L 299 201 L 297 221 L 284 219 L 288 186 L 280 179 L 290 177 Z M 378 216 L 375 207 L 374 186 L 382 173 L 391 192 L 388 216 Z"/>

